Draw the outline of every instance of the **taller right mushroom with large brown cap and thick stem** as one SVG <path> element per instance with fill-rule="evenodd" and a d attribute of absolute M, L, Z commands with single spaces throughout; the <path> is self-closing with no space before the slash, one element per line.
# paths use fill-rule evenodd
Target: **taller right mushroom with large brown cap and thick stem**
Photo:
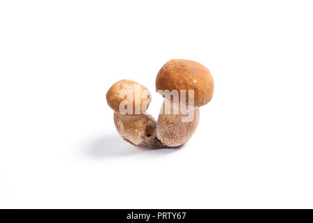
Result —
<path fill-rule="evenodd" d="M 166 98 L 157 121 L 157 138 L 166 146 L 181 146 L 192 137 L 198 126 L 199 107 L 206 105 L 212 98 L 213 77 L 205 66 L 195 61 L 170 60 L 159 71 L 156 88 Z M 173 95 L 166 95 L 166 90 L 174 91 Z M 167 100 L 170 100 L 170 109 L 168 114 L 164 114 L 163 107 Z M 182 112 L 183 104 L 187 114 L 192 114 L 191 117 L 184 116 L 186 113 Z"/>

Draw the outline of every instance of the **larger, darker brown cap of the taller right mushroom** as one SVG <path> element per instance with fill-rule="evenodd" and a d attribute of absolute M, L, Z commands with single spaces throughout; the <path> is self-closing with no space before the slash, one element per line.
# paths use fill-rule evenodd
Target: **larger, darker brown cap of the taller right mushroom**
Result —
<path fill-rule="evenodd" d="M 157 90 L 194 91 L 194 107 L 207 105 L 213 96 L 214 79 L 209 70 L 201 63 L 182 59 L 168 61 L 159 70 L 156 79 Z M 163 95 L 164 96 L 164 95 Z M 180 96 L 179 96 L 180 97 Z M 180 98 L 179 98 L 179 101 Z"/>

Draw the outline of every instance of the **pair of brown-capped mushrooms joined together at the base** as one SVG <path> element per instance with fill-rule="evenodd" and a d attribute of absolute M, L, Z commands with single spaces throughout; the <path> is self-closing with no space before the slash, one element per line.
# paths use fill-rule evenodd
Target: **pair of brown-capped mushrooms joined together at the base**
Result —
<path fill-rule="evenodd" d="M 195 61 L 170 60 L 159 70 L 156 88 L 165 98 L 157 121 L 146 113 L 151 94 L 145 86 L 127 79 L 113 84 L 106 101 L 114 110 L 115 128 L 122 139 L 141 148 L 181 146 L 198 126 L 199 107 L 212 98 L 211 73 Z"/>

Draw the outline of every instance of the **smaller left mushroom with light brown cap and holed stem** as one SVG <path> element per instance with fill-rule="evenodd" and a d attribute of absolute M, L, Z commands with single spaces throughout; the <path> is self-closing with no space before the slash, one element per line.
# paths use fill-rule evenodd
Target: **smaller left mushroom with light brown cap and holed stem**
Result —
<path fill-rule="evenodd" d="M 106 93 L 122 139 L 142 148 L 163 148 L 166 146 L 157 139 L 156 121 L 145 113 L 150 101 L 150 92 L 143 85 L 127 79 L 116 82 Z"/>

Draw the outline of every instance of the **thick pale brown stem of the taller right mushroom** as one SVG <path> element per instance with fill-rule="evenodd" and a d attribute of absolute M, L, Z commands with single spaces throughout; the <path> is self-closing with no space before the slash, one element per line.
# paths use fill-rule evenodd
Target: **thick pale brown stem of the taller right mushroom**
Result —
<path fill-rule="evenodd" d="M 175 114 L 174 106 L 180 105 L 165 99 L 157 121 L 157 138 L 168 147 L 185 144 L 193 136 L 200 118 L 199 107 L 187 107 L 188 114 L 183 114 L 182 109 L 179 109 L 178 114 Z"/>

